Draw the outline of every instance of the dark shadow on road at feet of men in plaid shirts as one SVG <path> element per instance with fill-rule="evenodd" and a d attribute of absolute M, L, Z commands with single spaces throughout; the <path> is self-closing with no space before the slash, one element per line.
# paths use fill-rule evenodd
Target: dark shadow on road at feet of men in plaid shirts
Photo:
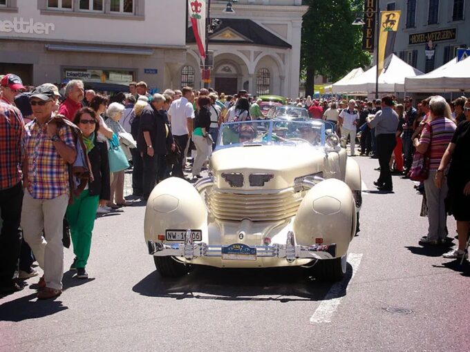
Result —
<path fill-rule="evenodd" d="M 21 322 L 38 317 L 46 317 L 68 309 L 59 300 L 36 302 L 36 293 L 0 305 L 0 321 Z M 34 300 L 34 301 L 33 301 Z"/>

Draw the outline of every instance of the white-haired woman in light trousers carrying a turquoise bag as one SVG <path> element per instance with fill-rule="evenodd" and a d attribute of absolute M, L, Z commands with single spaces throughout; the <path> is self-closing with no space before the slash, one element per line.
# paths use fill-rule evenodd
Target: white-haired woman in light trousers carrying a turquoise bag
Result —
<path fill-rule="evenodd" d="M 119 123 L 124 111 L 124 105 L 119 103 L 111 103 L 106 110 L 106 125 L 119 137 L 120 133 L 126 132 Z M 111 199 L 109 201 L 111 208 L 119 208 L 120 206 L 129 206 L 124 200 L 124 170 L 111 173 Z"/>

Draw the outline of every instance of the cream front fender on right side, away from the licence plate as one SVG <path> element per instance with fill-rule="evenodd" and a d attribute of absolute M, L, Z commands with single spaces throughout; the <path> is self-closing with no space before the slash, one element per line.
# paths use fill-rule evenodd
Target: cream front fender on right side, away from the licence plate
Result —
<path fill-rule="evenodd" d="M 326 179 L 303 198 L 293 229 L 297 244 L 336 244 L 336 257 L 341 257 L 348 251 L 355 226 L 355 200 L 349 186 L 339 179 Z"/>

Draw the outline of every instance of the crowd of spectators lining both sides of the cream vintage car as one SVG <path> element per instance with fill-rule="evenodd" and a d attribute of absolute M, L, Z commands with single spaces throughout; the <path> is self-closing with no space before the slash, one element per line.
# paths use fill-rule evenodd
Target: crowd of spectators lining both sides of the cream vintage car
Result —
<path fill-rule="evenodd" d="M 23 280 L 38 275 L 32 268 L 36 260 L 44 271 L 39 299 L 62 293 L 68 231 L 75 254 L 71 270 L 78 279 L 88 277 L 96 214 L 130 205 L 124 199 L 126 170 L 132 173 L 135 199 L 148 199 L 169 176 L 196 182 L 207 168 L 220 124 L 263 119 L 261 100 L 245 90 L 225 96 L 184 87 L 151 95 L 140 81 L 131 82 L 129 92 L 108 96 L 84 90 L 78 80 L 60 89 L 48 83 L 28 89 L 20 77 L 8 74 L 0 83 L 0 289 L 21 290 L 15 273 Z M 421 243 L 444 241 L 450 212 L 457 220 L 459 246 L 444 256 L 464 255 L 470 221 L 469 99 L 449 105 L 430 97 L 417 108 L 410 97 L 397 104 L 391 96 L 374 101 L 308 97 L 291 104 L 335 125 L 345 148 L 349 140 L 351 155 L 359 136 L 360 155 L 379 159 L 379 190 L 393 190 L 392 172 L 407 175 L 413 155 L 429 150 L 429 178 L 423 182 L 429 231 Z M 243 133 L 253 137 L 243 130 L 240 138 Z"/>

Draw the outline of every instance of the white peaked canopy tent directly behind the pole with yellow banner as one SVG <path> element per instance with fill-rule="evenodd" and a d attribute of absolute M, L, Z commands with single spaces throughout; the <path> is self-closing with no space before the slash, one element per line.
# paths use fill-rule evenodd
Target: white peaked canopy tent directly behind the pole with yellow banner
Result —
<path fill-rule="evenodd" d="M 386 59 L 384 70 L 379 75 L 379 92 L 391 93 L 404 91 L 405 77 L 416 77 L 422 75 L 420 70 L 408 65 L 405 61 L 392 54 Z M 375 70 L 376 66 L 368 69 L 345 84 L 333 84 L 333 91 L 347 93 L 349 95 L 370 95 L 375 93 Z M 336 87 L 335 87 L 336 86 Z"/>

